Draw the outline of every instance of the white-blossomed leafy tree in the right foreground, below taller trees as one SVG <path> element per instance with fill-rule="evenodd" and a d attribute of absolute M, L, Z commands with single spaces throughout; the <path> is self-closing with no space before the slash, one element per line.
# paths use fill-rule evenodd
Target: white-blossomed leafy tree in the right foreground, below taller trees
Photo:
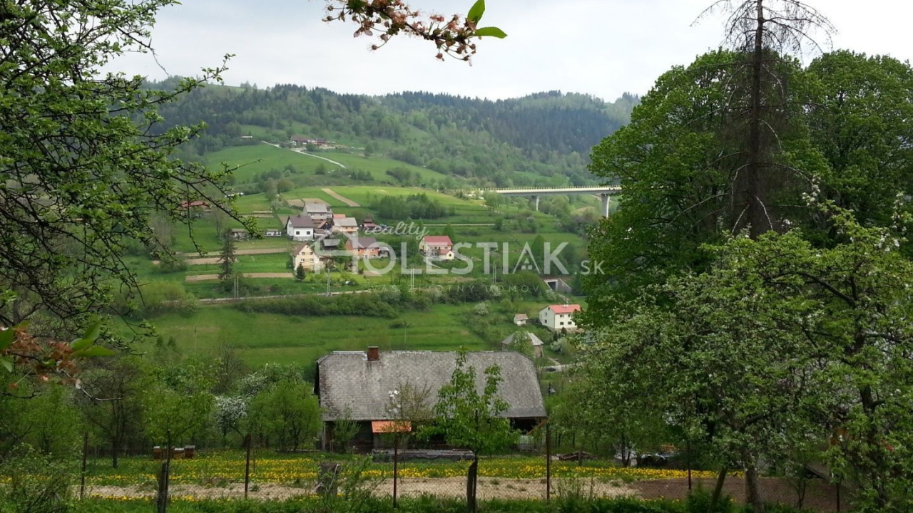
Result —
<path fill-rule="evenodd" d="M 889 230 L 824 211 L 841 243 L 816 248 L 792 231 L 710 248 L 708 272 L 669 279 L 660 292 L 670 304 L 647 298 L 603 333 L 592 358 L 614 370 L 601 386 L 650 397 L 657 414 L 708 439 L 721 465 L 750 469 L 837 436 L 827 457 L 859 484 L 860 504 L 901 511 L 911 497 L 900 469 L 913 461 L 903 449 L 913 267 Z"/>

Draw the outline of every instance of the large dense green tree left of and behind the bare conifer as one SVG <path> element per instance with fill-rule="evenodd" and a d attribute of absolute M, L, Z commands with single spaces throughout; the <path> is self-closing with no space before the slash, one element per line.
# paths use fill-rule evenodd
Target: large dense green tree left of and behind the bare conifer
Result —
<path fill-rule="evenodd" d="M 605 270 L 584 280 L 591 298 L 586 314 L 592 313 L 594 322 L 624 309 L 651 284 L 706 269 L 709 260 L 699 247 L 719 242 L 742 224 L 745 205 L 733 208 L 740 201 L 733 183 L 744 165 L 742 152 L 727 135 L 732 118 L 742 117 L 729 106 L 738 58 L 717 51 L 666 72 L 635 108 L 631 123 L 593 148 L 593 173 L 618 180 L 624 189 L 618 211 L 590 238 L 590 257 Z M 782 66 L 793 77 L 787 103 L 803 110 L 800 91 L 807 88 L 801 70 L 792 61 Z M 791 115 L 791 120 L 788 130 L 779 131 L 783 150 L 776 162 L 823 175 L 826 162 L 808 141 L 802 119 Z M 782 190 L 778 204 L 802 205 L 801 193 L 799 187 Z M 807 217 L 802 206 L 790 215 L 793 225 Z"/>

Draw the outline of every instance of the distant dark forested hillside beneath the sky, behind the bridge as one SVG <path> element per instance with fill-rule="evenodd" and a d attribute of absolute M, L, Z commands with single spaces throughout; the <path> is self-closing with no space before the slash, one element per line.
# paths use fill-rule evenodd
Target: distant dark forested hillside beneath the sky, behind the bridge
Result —
<path fill-rule="evenodd" d="M 175 80 L 149 86 L 169 89 Z M 162 113 L 168 124 L 208 125 L 185 157 L 253 142 L 243 135 L 275 142 L 301 135 L 474 185 L 580 185 L 598 182 L 586 169 L 590 148 L 623 126 L 638 101 L 560 91 L 497 101 L 424 92 L 368 97 L 245 85 L 196 90 Z"/>

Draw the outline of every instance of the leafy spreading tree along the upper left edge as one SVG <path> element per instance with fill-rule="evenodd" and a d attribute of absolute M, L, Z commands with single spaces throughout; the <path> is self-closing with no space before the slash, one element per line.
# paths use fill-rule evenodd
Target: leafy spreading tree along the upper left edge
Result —
<path fill-rule="evenodd" d="M 172 91 L 99 73 L 124 52 L 148 50 L 155 13 L 173 3 L 5 5 L 0 281 L 19 297 L 0 311 L 6 326 L 42 314 L 76 330 L 110 305 L 118 282 L 135 288 L 122 247 L 136 239 L 167 252 L 168 241 L 150 230 L 153 215 L 187 224 L 181 204 L 198 200 L 232 212 L 228 173 L 172 158 L 203 127 L 163 130 L 155 113 L 224 68 Z"/>

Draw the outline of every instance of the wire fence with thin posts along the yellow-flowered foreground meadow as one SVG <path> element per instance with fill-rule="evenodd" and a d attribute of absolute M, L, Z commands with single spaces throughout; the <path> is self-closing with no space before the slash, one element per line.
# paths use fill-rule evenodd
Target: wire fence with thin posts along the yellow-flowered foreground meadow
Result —
<path fill-rule="evenodd" d="M 370 456 L 333 455 L 317 451 L 280 454 L 254 450 L 192 455 L 160 451 L 160 459 L 124 460 L 116 472 L 102 471 L 94 461 L 87 472 L 88 445 L 82 462 L 80 497 L 135 495 L 154 499 L 163 513 L 168 497 L 288 498 L 299 496 L 389 497 L 394 507 L 405 497 L 466 500 L 594 500 L 607 497 L 685 499 L 718 486 L 719 471 L 664 466 L 641 458 L 633 466 L 593 458 L 582 451 L 553 454 L 551 436 L 537 450 L 515 455 L 476 457 L 468 451 L 412 449 L 405 445 L 374 450 Z M 153 457 L 155 457 L 153 456 Z M 689 462 L 690 458 L 685 458 Z M 107 472 L 107 473 L 106 473 Z M 87 478 L 88 475 L 88 478 Z M 145 480 L 145 481 L 143 481 Z M 845 487 L 809 469 L 796 477 L 763 476 L 761 497 L 768 503 L 833 513 L 846 511 Z M 724 496 L 746 502 L 745 477 L 729 472 L 720 488 Z"/>

